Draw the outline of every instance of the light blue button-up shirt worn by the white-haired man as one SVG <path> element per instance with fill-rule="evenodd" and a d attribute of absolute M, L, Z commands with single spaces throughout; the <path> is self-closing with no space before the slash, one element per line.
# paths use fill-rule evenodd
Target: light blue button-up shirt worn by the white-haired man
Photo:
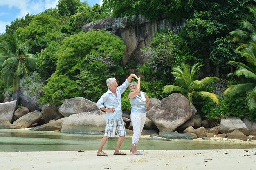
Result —
<path fill-rule="evenodd" d="M 106 113 L 106 119 L 120 119 L 122 118 L 122 100 L 121 94 L 124 93 L 125 89 L 129 86 L 129 82 L 126 80 L 121 86 L 117 87 L 116 93 L 117 97 L 115 97 L 114 93 L 108 89 L 106 93 L 104 93 L 101 98 L 96 103 L 99 108 L 114 108 L 115 112 Z M 105 106 L 104 106 L 105 105 Z"/>

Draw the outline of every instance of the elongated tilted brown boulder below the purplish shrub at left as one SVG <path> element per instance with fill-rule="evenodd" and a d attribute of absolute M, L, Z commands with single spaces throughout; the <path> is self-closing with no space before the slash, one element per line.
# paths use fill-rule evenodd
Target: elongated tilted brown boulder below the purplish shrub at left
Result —
<path fill-rule="evenodd" d="M 30 112 L 20 117 L 18 120 L 14 121 L 12 125 L 15 129 L 29 128 L 32 124 L 36 123 L 42 117 L 42 113 L 38 110 L 35 110 L 34 112 Z"/>

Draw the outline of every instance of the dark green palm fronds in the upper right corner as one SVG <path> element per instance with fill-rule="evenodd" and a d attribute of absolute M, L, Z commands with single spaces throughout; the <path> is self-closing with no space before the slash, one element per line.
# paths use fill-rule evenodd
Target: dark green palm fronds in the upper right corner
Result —
<path fill-rule="evenodd" d="M 247 8 L 256 19 L 256 6 L 248 5 Z M 255 24 L 252 24 L 247 20 L 240 20 L 239 24 L 246 31 L 237 29 L 236 31 L 232 31 L 229 33 L 232 36 L 233 42 L 241 43 L 241 45 L 238 46 L 236 50 L 245 48 L 248 45 L 247 42 L 256 42 L 256 28 L 254 27 Z"/>

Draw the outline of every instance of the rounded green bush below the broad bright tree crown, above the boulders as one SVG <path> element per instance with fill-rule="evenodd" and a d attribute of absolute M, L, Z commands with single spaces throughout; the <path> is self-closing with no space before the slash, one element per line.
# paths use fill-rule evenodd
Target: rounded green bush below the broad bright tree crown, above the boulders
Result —
<path fill-rule="evenodd" d="M 47 79 L 47 82 L 47 85 L 43 87 L 44 95 L 39 98 L 41 104 L 50 102 L 55 106 L 61 106 L 65 99 L 82 96 L 78 84 L 66 74 L 56 75 L 54 73 Z"/>

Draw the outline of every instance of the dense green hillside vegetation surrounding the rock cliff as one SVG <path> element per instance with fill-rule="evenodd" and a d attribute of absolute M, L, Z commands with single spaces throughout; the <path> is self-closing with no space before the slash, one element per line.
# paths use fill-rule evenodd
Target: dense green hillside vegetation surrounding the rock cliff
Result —
<path fill-rule="evenodd" d="M 186 18 L 180 31 L 159 30 L 141 49 L 151 56 L 132 70 L 142 77 L 141 90 L 158 99 L 181 91 L 200 115 L 214 121 L 232 115 L 256 121 L 255 5 L 256 0 L 103 0 L 102 7 L 90 7 L 59 0 L 54 9 L 17 18 L 0 35 L 0 97 L 20 87 L 23 98 L 40 106 L 60 106 L 72 97 L 96 102 L 107 90 L 106 79 L 115 76 L 120 84 L 134 63 L 123 65 L 126 47 L 119 37 L 83 32 L 83 25 L 107 16 Z M 198 75 L 186 77 L 195 67 Z M 182 83 L 180 76 L 190 82 Z M 127 93 L 124 110 L 130 109 Z"/>

